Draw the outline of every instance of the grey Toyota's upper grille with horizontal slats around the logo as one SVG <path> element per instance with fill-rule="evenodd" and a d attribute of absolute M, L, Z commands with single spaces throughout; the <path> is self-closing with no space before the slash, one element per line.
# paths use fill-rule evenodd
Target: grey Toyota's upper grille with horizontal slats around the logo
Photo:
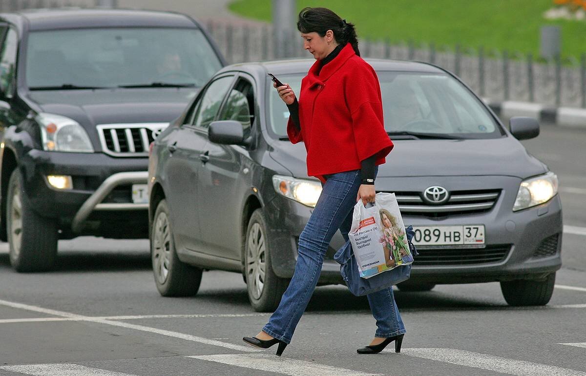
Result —
<path fill-rule="evenodd" d="M 454 214 L 481 213 L 490 210 L 499 198 L 500 190 L 463 190 L 450 192 L 444 204 L 423 200 L 421 192 L 395 192 L 401 214 L 443 217 Z"/>

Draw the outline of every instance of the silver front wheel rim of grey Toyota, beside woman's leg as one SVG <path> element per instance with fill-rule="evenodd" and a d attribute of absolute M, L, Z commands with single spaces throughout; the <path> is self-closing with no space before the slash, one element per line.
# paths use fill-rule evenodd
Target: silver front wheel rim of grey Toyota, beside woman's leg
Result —
<path fill-rule="evenodd" d="M 266 253 L 265 237 L 263 228 L 255 223 L 248 233 L 248 244 L 246 246 L 246 276 L 250 283 L 251 293 L 254 299 L 259 299 L 263 294 L 266 274 Z"/>

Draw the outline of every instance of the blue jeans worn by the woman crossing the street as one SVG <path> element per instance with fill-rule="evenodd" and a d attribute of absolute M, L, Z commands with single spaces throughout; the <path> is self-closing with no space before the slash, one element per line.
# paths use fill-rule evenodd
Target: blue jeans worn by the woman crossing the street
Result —
<path fill-rule="evenodd" d="M 378 172 L 378 166 L 375 173 Z M 360 170 L 325 175 L 322 193 L 308 223 L 299 236 L 297 265 L 281 303 L 272 314 L 263 331 L 271 337 L 291 343 L 295 327 L 309 303 L 322 270 L 333 235 L 340 230 L 344 240 L 352 226 L 352 213 L 360 187 Z M 405 326 L 397 309 L 393 288 L 367 295 L 370 310 L 376 319 L 375 337 L 393 337 L 405 333 Z"/>

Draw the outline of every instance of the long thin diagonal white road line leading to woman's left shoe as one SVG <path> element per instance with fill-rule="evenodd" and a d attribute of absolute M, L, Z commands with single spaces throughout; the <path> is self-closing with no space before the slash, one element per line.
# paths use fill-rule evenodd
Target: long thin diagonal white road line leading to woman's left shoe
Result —
<path fill-rule="evenodd" d="M 110 326 L 124 327 L 127 329 L 147 331 L 149 333 L 161 334 L 162 336 L 175 337 L 175 338 L 183 339 L 186 341 L 199 342 L 199 343 L 203 343 L 203 344 L 209 344 L 212 346 L 220 346 L 220 347 L 230 348 L 231 350 L 244 351 L 247 353 L 262 351 L 262 350 L 259 350 L 257 348 L 253 348 L 250 346 L 241 346 L 241 345 L 222 342 L 222 341 L 210 340 L 210 339 L 203 338 L 203 337 L 192 336 L 191 334 L 179 333 L 177 331 L 162 330 L 162 329 L 156 329 L 153 327 L 148 327 L 148 326 L 143 326 L 143 325 L 135 325 L 135 324 L 125 323 L 125 322 L 117 322 L 117 321 L 113 321 L 113 320 L 100 319 L 99 317 L 76 315 L 76 314 L 70 313 L 70 312 L 63 312 L 63 311 L 57 311 L 57 310 L 53 310 L 53 309 L 46 309 L 43 307 L 31 306 L 31 305 L 26 305 L 26 304 L 22 304 L 22 303 L 8 302 L 8 300 L 0 300 L 0 305 L 18 308 L 18 309 L 30 310 L 30 311 L 34 311 L 34 312 L 42 312 L 42 313 L 46 313 L 48 315 L 68 317 L 68 318 L 74 319 L 76 321 L 87 321 L 87 322 L 100 323 L 100 324 L 105 324 L 105 325 L 110 325 Z"/>

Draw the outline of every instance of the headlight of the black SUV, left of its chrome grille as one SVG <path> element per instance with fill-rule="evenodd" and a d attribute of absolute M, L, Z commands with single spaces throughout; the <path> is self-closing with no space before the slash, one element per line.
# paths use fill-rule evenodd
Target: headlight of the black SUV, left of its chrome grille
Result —
<path fill-rule="evenodd" d="M 77 121 L 46 112 L 41 112 L 35 119 L 40 125 L 43 149 L 52 152 L 94 152 L 86 130 Z"/>

